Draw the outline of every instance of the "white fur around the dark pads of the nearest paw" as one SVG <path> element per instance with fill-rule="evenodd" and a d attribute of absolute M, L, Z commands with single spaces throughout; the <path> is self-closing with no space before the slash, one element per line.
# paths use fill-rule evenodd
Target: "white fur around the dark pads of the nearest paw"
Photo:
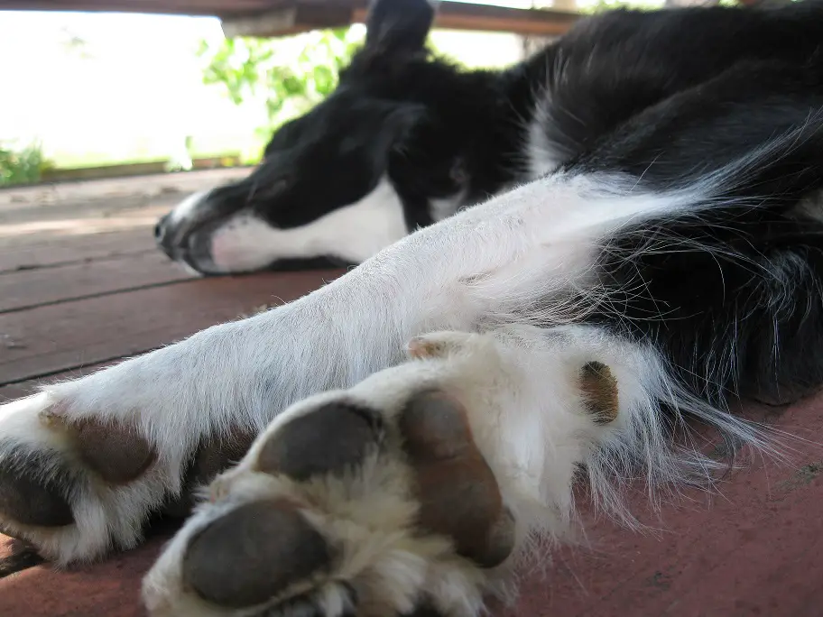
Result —
<path fill-rule="evenodd" d="M 430 594 L 444 614 L 476 617 L 484 594 L 504 588 L 513 566 L 531 556 L 536 536 L 568 537 L 579 465 L 588 469 L 596 502 L 621 519 L 619 483 L 633 471 L 635 457 L 662 470 L 667 481 L 689 477 L 693 465 L 708 465 L 696 452 L 684 456 L 672 449 L 663 437 L 657 401 L 672 401 L 677 386 L 651 349 L 579 326 L 508 327 L 483 335 L 445 332 L 423 338 L 439 349 L 436 357 L 375 373 L 348 391 L 310 397 L 266 428 L 243 461 L 215 480 L 212 502 L 200 507 L 146 576 L 143 595 L 151 614 L 239 617 L 264 609 L 229 611 L 205 603 L 183 584 L 183 561 L 191 539 L 228 512 L 249 502 L 286 498 L 310 504 L 307 518 L 345 556 L 328 575 L 305 582 L 315 592 L 329 597 L 341 581 L 347 582 L 361 603 L 380 607 L 369 611 L 361 605 L 357 614 L 363 617 L 410 612 L 421 593 Z M 606 364 L 617 383 L 616 419 L 606 424 L 595 421 L 580 389 L 580 369 L 592 361 Z M 367 459 L 353 476 L 342 479 L 295 483 L 257 471 L 264 445 L 292 419 L 325 403 L 377 410 L 391 425 L 415 392 L 432 388 L 448 391 L 467 410 L 475 443 L 513 513 L 515 548 L 501 566 L 476 568 L 456 559 L 437 537 L 415 530 L 411 483 L 402 454 L 391 451 L 391 440 L 381 448 L 387 454 Z M 236 566 L 242 564 L 224 565 Z M 305 593 L 304 586 L 300 589 Z M 268 605 L 289 595 L 284 592 Z"/>

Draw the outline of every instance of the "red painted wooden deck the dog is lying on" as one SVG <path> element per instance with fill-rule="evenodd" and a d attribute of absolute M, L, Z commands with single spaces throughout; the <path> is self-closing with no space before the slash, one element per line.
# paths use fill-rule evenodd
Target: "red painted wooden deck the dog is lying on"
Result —
<path fill-rule="evenodd" d="M 170 343 L 337 272 L 193 280 L 153 248 L 155 217 L 209 171 L 0 192 L 0 401 Z M 523 617 L 823 616 L 823 397 L 768 421 L 804 437 L 784 465 L 754 461 L 717 494 L 687 492 L 649 531 L 587 518 L 585 544 L 527 573 Z M 643 511 L 643 499 L 637 500 Z M 137 617 L 140 578 L 168 537 L 58 572 L 0 536 L 0 616 Z"/>

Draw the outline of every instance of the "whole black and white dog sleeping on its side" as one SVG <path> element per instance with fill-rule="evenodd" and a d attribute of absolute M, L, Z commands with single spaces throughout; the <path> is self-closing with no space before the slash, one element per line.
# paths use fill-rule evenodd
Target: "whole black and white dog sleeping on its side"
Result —
<path fill-rule="evenodd" d="M 605 14 L 501 73 L 427 57 L 432 15 L 377 0 L 338 91 L 159 229 L 201 272 L 365 262 L 0 408 L 5 530 L 133 547 L 242 458 L 153 615 L 474 617 L 577 485 L 631 525 L 630 479 L 710 478 L 687 418 L 772 447 L 726 405 L 823 382 L 823 5 Z"/>

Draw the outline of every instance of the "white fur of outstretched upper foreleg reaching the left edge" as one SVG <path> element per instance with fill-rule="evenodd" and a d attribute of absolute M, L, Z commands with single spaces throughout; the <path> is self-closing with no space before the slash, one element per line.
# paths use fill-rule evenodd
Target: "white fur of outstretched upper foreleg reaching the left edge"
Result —
<path fill-rule="evenodd" d="M 165 493 L 180 491 L 182 465 L 199 438 L 229 428 L 262 431 L 291 403 L 396 364 L 412 336 L 516 323 L 523 317 L 515 310 L 537 299 L 549 307 L 544 322 L 562 323 L 569 318 L 563 310 L 586 308 L 559 305 L 554 314 L 548 300 L 569 290 L 596 292 L 592 260 L 606 238 L 649 216 L 686 212 L 711 198 L 695 191 L 653 195 L 634 186 L 632 179 L 599 175 L 537 180 L 404 237 L 291 304 L 53 384 L 13 403 L 13 412 L 0 408 L 0 435 L 7 437 L 0 442 L 0 465 L 8 448 L 51 444 L 49 429 L 37 419 L 44 409 L 63 421 L 93 416 L 130 423 L 161 453 L 150 472 L 132 483 L 75 494 L 76 513 L 100 513 L 78 526 L 47 532 L 23 529 L 14 520 L 3 525 L 48 545 L 60 562 L 98 557 L 112 539 L 133 544 L 147 512 Z M 637 379 L 659 380 L 655 374 Z M 530 446 L 537 458 L 545 456 L 545 447 Z M 643 456 L 652 456 L 661 446 L 643 447 Z M 70 444 L 59 449 L 66 465 L 82 472 Z"/>

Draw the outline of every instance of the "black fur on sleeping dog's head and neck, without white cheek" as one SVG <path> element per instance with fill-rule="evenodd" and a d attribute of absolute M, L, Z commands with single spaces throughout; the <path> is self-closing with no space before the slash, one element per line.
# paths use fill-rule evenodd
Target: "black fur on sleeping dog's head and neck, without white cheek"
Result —
<path fill-rule="evenodd" d="M 185 224 L 171 228 L 163 217 L 162 250 L 203 270 L 210 234 L 229 216 L 246 209 L 275 228 L 303 226 L 364 198 L 384 176 L 412 231 L 433 222 L 432 199 L 476 203 L 522 178 L 528 105 L 513 108 L 507 73 L 432 58 L 423 46 L 432 17 L 423 0 L 375 5 L 336 91 L 276 131 L 250 176 L 213 190 Z"/>

